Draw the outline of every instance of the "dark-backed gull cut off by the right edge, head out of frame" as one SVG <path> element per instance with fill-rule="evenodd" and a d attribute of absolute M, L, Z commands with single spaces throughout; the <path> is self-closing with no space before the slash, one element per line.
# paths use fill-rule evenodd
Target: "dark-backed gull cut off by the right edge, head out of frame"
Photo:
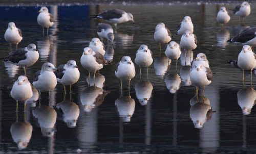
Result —
<path fill-rule="evenodd" d="M 240 42 L 243 45 L 250 45 L 252 47 L 256 45 L 256 27 L 244 29 L 240 34 L 227 40 L 228 42 Z"/>

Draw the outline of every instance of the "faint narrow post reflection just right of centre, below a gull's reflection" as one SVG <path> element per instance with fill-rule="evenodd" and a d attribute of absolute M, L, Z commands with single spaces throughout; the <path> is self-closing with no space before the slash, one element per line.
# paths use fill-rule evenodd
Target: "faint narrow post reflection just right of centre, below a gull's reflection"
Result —
<path fill-rule="evenodd" d="M 151 100 L 145 106 L 145 144 L 151 145 Z"/>

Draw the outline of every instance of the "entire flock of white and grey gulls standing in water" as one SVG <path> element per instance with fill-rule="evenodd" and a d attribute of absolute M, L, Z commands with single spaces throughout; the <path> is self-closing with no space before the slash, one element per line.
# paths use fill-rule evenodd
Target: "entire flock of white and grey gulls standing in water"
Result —
<path fill-rule="evenodd" d="M 37 22 L 43 28 L 42 34 L 44 35 L 44 29 L 47 28 L 48 35 L 49 28 L 54 24 L 53 16 L 48 12 L 47 7 L 41 7 L 38 13 L 39 15 L 37 17 Z M 238 5 L 235 9 L 233 9 L 233 13 L 239 18 L 243 18 L 244 21 L 244 18 L 250 14 L 250 5 L 248 2 L 243 2 L 241 5 Z M 131 13 L 126 13 L 120 9 L 105 10 L 104 12 L 96 15 L 95 18 L 108 21 L 112 23 L 115 28 L 117 28 L 118 23 L 127 21 L 132 21 L 135 23 Z M 223 24 L 227 23 L 229 20 L 230 16 L 228 15 L 226 8 L 221 7 L 217 15 L 217 21 L 220 22 L 223 27 Z M 193 32 L 193 22 L 189 16 L 185 16 L 184 19 L 178 24 L 176 33 L 176 35 L 181 36 L 180 43 L 171 41 L 173 36 L 165 27 L 164 23 L 158 23 L 156 25 L 154 38 L 156 42 L 159 43 L 160 51 L 161 44 L 168 44 L 165 50 L 165 55 L 169 60 L 176 60 L 177 67 L 177 60 L 181 55 L 181 48 L 189 51 L 197 47 L 197 36 L 193 34 Z M 251 48 L 251 46 L 256 45 L 255 32 L 256 28 L 248 28 L 243 30 L 237 36 L 228 40 L 229 42 L 240 42 L 244 45 L 241 53 L 238 56 L 238 66 L 243 69 L 243 75 L 244 70 L 252 70 L 256 67 L 256 56 Z M 102 69 L 104 65 L 108 65 L 110 63 L 104 59 L 105 50 L 104 44 L 102 43 L 103 39 L 108 40 L 109 44 L 110 42 L 113 43 L 115 37 L 113 28 L 108 23 L 99 23 L 97 27 L 97 34 L 102 41 L 99 38 L 93 38 L 89 46 L 83 49 L 80 59 L 82 67 L 89 71 L 89 78 L 90 73 L 93 72 L 94 79 L 96 71 Z M 69 60 L 67 64 L 60 65 L 57 68 L 52 63 L 44 63 L 41 70 L 38 70 L 34 74 L 34 79 L 31 84 L 26 76 L 26 70 L 27 67 L 32 66 L 38 60 L 39 54 L 38 50 L 36 49 L 36 45 L 33 43 L 28 44 L 28 46 L 25 48 L 17 49 L 18 43 L 22 41 L 22 39 L 22 31 L 16 28 L 14 22 L 10 22 L 5 33 L 5 40 L 10 43 L 10 48 L 12 47 L 12 44 L 15 44 L 16 50 L 2 59 L 5 62 L 9 62 L 24 68 L 25 75 L 20 75 L 18 77 L 11 90 L 11 96 L 16 100 L 17 104 L 18 101 L 27 101 L 30 99 L 33 95 L 33 88 L 38 90 L 39 99 L 41 92 L 49 91 L 50 94 L 50 90 L 57 85 L 57 82 L 63 85 L 65 93 L 66 86 L 70 86 L 71 93 L 72 85 L 75 84 L 80 77 L 76 61 Z M 141 67 L 147 67 L 148 75 L 148 66 L 153 63 L 153 58 L 152 52 L 150 49 L 148 49 L 147 45 L 142 44 L 139 47 L 136 52 L 135 63 L 140 67 L 140 74 Z M 122 89 L 122 81 L 129 81 L 130 89 L 130 81 L 134 78 L 135 74 L 135 64 L 133 63 L 131 57 L 123 56 L 120 62 L 116 64 L 115 71 L 115 75 L 121 81 L 120 88 Z M 197 87 L 196 95 L 198 95 L 199 87 L 204 88 L 211 83 L 212 77 L 213 75 L 209 68 L 209 62 L 206 55 L 203 53 L 198 54 L 190 68 L 190 81 L 194 86 Z M 173 87 L 170 87 L 170 89 L 172 88 Z M 199 98 L 197 97 L 197 99 Z"/>

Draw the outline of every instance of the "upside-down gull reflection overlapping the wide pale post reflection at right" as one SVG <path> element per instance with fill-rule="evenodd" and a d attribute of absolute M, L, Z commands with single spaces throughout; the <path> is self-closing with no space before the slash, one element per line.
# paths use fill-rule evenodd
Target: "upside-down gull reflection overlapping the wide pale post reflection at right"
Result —
<path fill-rule="evenodd" d="M 197 129 L 202 128 L 203 124 L 211 119 L 213 113 L 210 100 L 202 94 L 202 88 L 199 89 L 200 94 L 190 99 L 191 107 L 189 111 L 190 118 Z"/>

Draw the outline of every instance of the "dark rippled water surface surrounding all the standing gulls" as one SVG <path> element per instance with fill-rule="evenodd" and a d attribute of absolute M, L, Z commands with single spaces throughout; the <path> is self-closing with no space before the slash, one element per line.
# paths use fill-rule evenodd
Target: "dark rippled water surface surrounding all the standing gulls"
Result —
<path fill-rule="evenodd" d="M 236 5 L 238 4 L 229 4 L 225 7 L 229 9 Z M 242 45 L 227 43 L 226 40 L 244 28 L 255 25 L 256 5 L 251 4 L 252 11 L 245 18 L 245 25 L 241 25 L 239 18 L 230 12 L 231 20 L 224 25 L 224 30 L 216 21 L 217 12 L 222 6 L 200 3 L 47 6 L 56 20 L 49 30 L 49 37 L 42 36 L 42 29 L 36 22 L 36 12 L 41 6 L 2 6 L 1 57 L 9 53 L 10 46 L 4 39 L 4 33 L 8 23 L 13 21 L 23 31 L 23 40 L 18 47 L 35 43 L 39 50 L 39 60 L 27 70 L 30 81 L 43 63 L 51 62 L 57 67 L 71 59 L 77 62 L 80 79 L 72 87 L 73 103 L 69 101 L 69 94 L 66 101 L 63 101 L 63 86 L 58 84 L 51 91 L 50 103 L 47 92 L 41 95 L 41 106 L 39 107 L 38 100 L 36 103 L 32 101 L 27 104 L 26 113 L 24 103 L 20 102 L 17 119 L 16 102 L 10 96 L 10 90 L 18 76 L 23 75 L 23 69 L 7 67 L 2 63 L 1 153 L 77 153 L 77 149 L 81 153 L 255 153 L 256 112 L 252 108 L 255 91 L 242 90 L 242 71 L 227 63 L 229 60 L 237 60 Z M 82 68 L 80 57 L 83 48 L 88 46 L 92 38 L 97 37 L 97 23 L 102 21 L 90 18 L 98 13 L 97 8 L 119 8 L 131 12 L 136 24 L 118 24 L 114 45 L 109 48 L 105 46 L 108 48 L 106 59 L 113 64 L 104 66 L 96 74 L 97 87 L 92 86 L 92 80 L 92 87 L 89 87 L 88 71 Z M 178 23 L 186 15 L 194 23 L 198 47 L 193 52 L 182 51 L 176 74 L 175 64 L 168 67 L 168 59 L 164 55 L 165 44 L 162 44 L 159 55 L 154 30 L 157 23 L 164 22 L 175 36 Z M 180 42 L 180 36 L 175 36 L 173 40 Z M 154 63 L 149 69 L 149 82 L 145 68 L 142 69 L 140 81 L 139 67 L 135 65 L 137 74 L 131 81 L 130 96 L 127 82 L 124 82 L 121 97 L 120 80 L 114 74 L 114 64 L 123 56 L 130 56 L 134 61 L 135 52 L 141 44 L 146 44 L 153 52 Z M 190 61 L 198 53 L 206 54 L 212 72 L 216 73 L 212 83 L 205 88 L 205 97 L 199 98 L 204 103 L 196 102 L 196 88 L 190 85 L 188 78 Z M 253 81 L 254 79 L 253 72 Z M 166 87 L 170 85 L 178 86 L 178 91 L 170 93 Z M 249 75 L 245 76 L 245 87 L 250 87 Z M 255 82 L 252 87 L 255 87 Z M 243 100 L 251 100 L 241 105 L 242 108 L 252 108 L 249 115 L 243 115 L 238 95 Z M 144 97 L 149 100 L 141 103 L 139 100 Z M 212 112 L 207 113 L 209 109 Z M 55 112 L 57 117 L 53 116 Z M 76 126 L 71 127 L 68 119 L 78 119 Z M 199 119 L 203 121 L 201 129 L 195 128 L 193 122 Z M 130 122 L 122 122 L 129 120 Z M 18 149 L 10 133 L 10 128 L 16 121 L 26 122 L 33 127 L 28 146 L 22 150 Z"/>

